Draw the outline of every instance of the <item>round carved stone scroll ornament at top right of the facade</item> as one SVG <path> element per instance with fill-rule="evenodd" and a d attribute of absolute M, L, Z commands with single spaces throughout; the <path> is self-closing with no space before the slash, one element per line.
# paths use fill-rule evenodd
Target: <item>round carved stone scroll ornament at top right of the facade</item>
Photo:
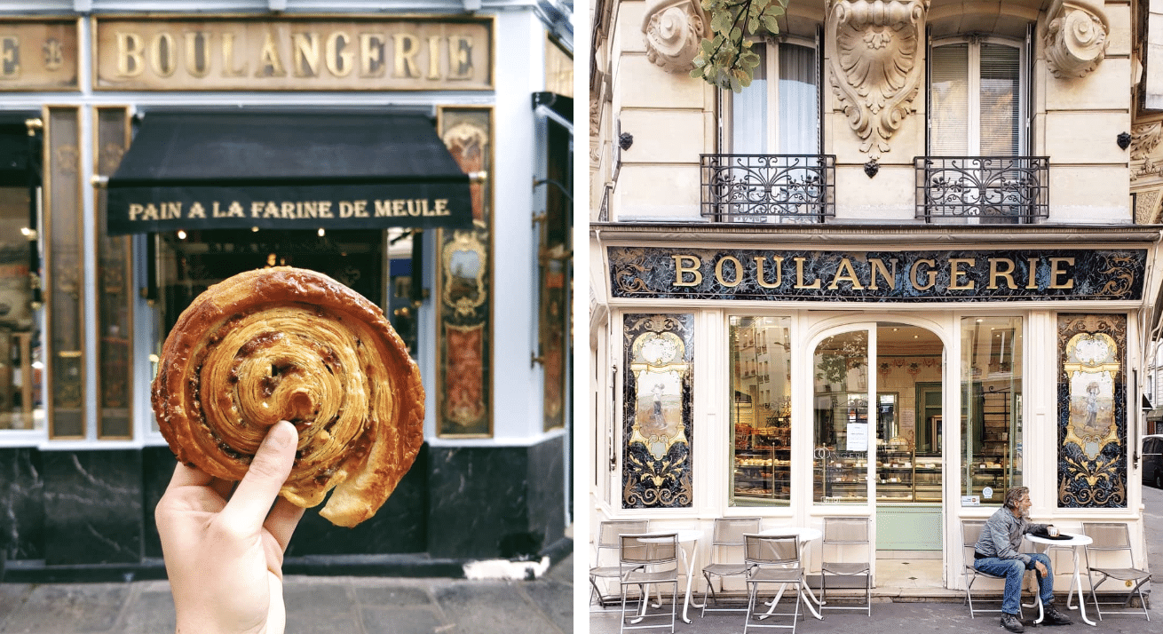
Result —
<path fill-rule="evenodd" d="M 1111 45 L 1111 24 L 1103 2 L 1055 0 L 1042 33 L 1046 67 L 1054 77 L 1086 77 L 1098 67 Z"/>

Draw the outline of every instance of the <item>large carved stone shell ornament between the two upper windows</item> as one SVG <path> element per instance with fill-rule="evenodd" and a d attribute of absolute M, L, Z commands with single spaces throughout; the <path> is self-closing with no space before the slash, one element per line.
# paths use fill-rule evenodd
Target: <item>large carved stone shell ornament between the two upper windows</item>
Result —
<path fill-rule="evenodd" d="M 832 0 L 827 48 L 832 86 L 871 158 L 913 113 L 925 74 L 920 50 L 929 0 Z"/>

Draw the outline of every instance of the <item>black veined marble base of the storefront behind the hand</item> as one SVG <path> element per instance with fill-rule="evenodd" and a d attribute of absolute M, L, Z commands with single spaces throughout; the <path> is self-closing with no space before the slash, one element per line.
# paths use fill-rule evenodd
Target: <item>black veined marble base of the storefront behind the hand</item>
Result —
<path fill-rule="evenodd" d="M 384 507 L 355 528 L 308 510 L 287 574 L 463 576 L 480 558 L 566 556 L 564 437 L 533 447 L 421 448 Z M 0 449 L 8 582 L 163 578 L 154 508 L 176 464 L 141 450 Z"/>

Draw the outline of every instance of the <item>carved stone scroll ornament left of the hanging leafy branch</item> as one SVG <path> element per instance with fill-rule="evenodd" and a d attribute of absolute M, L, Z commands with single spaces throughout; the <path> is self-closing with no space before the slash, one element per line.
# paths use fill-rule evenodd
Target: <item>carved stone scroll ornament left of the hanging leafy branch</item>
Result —
<path fill-rule="evenodd" d="M 697 0 L 650 0 L 642 19 L 647 59 L 666 72 L 690 72 L 707 24 Z"/>

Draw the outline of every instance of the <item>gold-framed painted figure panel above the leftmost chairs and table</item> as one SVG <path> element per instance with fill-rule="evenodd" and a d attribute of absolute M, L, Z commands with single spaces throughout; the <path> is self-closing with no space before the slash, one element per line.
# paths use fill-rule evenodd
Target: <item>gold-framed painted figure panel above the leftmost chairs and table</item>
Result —
<path fill-rule="evenodd" d="M 692 314 L 623 318 L 622 507 L 691 506 Z"/>

